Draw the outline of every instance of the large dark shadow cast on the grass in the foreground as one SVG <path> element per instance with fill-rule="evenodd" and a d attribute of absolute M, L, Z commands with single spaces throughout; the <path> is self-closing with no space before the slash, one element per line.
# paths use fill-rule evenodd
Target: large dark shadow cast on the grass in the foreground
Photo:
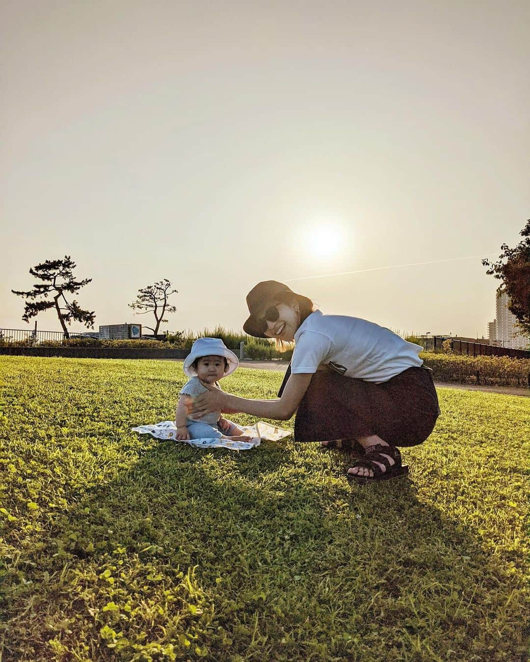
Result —
<path fill-rule="evenodd" d="M 524 659 L 509 569 L 408 479 L 350 486 L 347 465 L 152 446 L 26 550 L 7 659 Z"/>

